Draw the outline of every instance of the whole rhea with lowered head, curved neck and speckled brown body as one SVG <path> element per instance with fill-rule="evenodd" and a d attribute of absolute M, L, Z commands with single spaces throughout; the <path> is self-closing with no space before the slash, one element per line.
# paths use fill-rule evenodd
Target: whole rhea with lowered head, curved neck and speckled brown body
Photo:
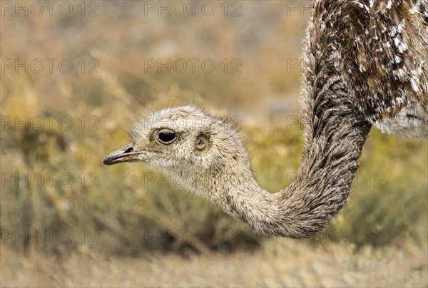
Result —
<path fill-rule="evenodd" d="M 270 193 L 253 178 L 240 133 L 200 108 L 166 108 L 133 125 L 104 163 L 170 173 L 255 232 L 309 237 L 345 205 L 372 125 L 428 138 L 428 4 L 315 1 L 302 56 L 304 151 L 295 181 Z"/>

